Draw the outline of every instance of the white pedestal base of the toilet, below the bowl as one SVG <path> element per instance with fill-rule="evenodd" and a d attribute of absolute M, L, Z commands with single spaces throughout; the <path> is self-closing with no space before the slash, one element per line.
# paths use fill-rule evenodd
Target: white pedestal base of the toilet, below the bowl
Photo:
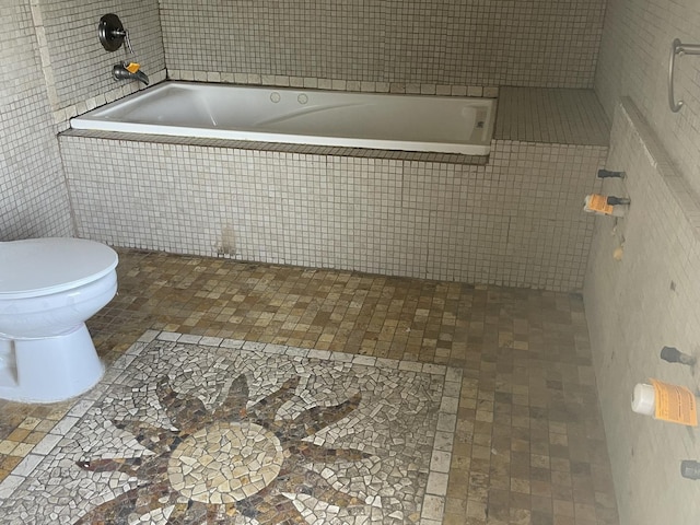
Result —
<path fill-rule="evenodd" d="M 84 323 L 45 339 L 0 339 L 0 398 L 56 402 L 102 378 L 104 366 Z"/>

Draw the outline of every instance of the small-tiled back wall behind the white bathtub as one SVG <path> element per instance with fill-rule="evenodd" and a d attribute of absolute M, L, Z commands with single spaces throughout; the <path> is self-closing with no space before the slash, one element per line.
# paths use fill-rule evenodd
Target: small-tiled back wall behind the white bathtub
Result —
<path fill-rule="evenodd" d="M 593 85 L 605 13 L 603 0 L 162 0 L 160 7 L 168 69 L 549 88 Z"/>

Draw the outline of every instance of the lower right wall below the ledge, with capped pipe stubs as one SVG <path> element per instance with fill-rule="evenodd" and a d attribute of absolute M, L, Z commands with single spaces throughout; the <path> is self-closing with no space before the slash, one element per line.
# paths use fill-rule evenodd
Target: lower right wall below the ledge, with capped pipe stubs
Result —
<path fill-rule="evenodd" d="M 700 431 L 635 415 L 630 396 L 648 377 L 700 386 L 697 371 L 660 359 L 664 346 L 697 355 L 700 206 L 629 98 L 610 137 L 607 167 L 627 177 L 605 189 L 629 196 L 632 206 L 619 221 L 597 220 L 585 303 L 620 517 L 697 523 L 698 486 L 680 477 L 680 462 L 700 457 Z"/>

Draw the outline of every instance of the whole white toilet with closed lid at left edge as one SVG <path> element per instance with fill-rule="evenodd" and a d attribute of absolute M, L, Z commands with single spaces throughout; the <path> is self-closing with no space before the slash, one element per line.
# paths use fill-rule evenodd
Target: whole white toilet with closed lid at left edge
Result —
<path fill-rule="evenodd" d="M 0 398 L 78 396 L 104 366 L 85 326 L 117 291 L 119 258 L 81 238 L 0 242 Z"/>

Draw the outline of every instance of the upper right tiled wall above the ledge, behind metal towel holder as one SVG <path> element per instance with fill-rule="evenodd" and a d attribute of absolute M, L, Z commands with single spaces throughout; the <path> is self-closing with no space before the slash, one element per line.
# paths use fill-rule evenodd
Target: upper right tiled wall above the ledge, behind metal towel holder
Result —
<path fill-rule="evenodd" d="M 700 44 L 700 2 L 696 0 L 608 0 L 595 89 L 608 116 L 629 96 L 660 137 L 670 159 L 700 195 L 700 56 L 677 60 L 677 100 L 668 107 L 670 44 L 678 37 Z"/>

